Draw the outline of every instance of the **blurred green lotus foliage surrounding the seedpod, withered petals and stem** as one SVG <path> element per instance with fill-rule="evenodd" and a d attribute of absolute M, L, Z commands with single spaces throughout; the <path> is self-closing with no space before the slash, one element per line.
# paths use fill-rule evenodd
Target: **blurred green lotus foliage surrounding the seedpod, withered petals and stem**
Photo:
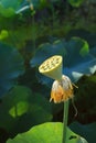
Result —
<path fill-rule="evenodd" d="M 38 72 L 55 54 L 63 56 L 63 74 L 78 86 L 78 114 L 74 118 L 71 102 L 68 125 L 88 143 L 96 142 L 95 13 L 94 0 L 0 0 L 0 143 L 30 143 L 31 133 L 42 134 L 42 142 L 61 143 L 62 123 L 54 122 L 62 122 L 63 105 L 49 102 L 53 80 Z M 51 138 L 54 124 L 58 136 Z M 86 143 L 83 138 L 78 142 Z"/>

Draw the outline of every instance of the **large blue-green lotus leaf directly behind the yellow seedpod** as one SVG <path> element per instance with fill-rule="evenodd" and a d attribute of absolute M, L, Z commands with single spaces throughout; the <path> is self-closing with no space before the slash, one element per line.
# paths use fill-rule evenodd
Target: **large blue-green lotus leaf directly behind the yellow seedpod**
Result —
<path fill-rule="evenodd" d="M 41 45 L 31 59 L 31 66 L 39 66 L 53 55 L 63 56 L 63 74 L 73 81 L 77 81 L 83 75 L 94 74 L 96 70 L 96 58 L 90 53 L 88 43 L 83 38 L 73 37 L 70 41 L 56 41 L 53 44 Z M 50 78 L 39 73 L 38 77 L 43 84 L 51 81 Z"/>

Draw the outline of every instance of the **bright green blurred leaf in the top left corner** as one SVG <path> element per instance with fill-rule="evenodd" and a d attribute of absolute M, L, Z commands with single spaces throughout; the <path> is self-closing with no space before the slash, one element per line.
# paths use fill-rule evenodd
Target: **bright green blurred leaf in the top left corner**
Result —
<path fill-rule="evenodd" d="M 0 14 L 6 18 L 14 15 L 20 3 L 21 0 L 0 0 Z"/>

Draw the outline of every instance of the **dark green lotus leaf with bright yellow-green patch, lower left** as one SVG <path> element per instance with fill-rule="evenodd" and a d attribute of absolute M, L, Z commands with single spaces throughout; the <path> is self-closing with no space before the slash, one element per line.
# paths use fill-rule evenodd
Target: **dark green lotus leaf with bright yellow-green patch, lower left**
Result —
<path fill-rule="evenodd" d="M 14 135 L 51 121 L 51 106 L 43 96 L 23 86 L 14 87 L 0 103 L 0 128 Z"/>

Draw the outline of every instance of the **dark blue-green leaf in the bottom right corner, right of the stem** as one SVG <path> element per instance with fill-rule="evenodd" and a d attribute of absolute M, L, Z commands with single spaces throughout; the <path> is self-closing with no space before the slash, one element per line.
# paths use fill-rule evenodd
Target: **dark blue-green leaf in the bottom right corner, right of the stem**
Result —
<path fill-rule="evenodd" d="M 96 122 L 85 125 L 73 122 L 70 128 L 79 135 L 83 135 L 88 143 L 96 143 Z"/>

